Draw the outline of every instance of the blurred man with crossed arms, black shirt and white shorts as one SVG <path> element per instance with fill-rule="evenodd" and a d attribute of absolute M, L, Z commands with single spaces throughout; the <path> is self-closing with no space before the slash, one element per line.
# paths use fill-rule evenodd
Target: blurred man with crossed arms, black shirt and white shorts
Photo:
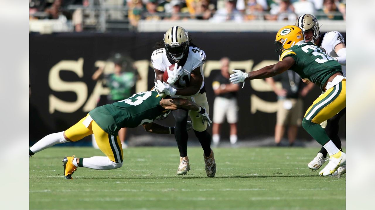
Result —
<path fill-rule="evenodd" d="M 230 126 L 229 140 L 231 145 L 234 145 L 237 142 L 237 92 L 240 88 L 238 84 L 231 84 L 229 81 L 229 58 L 224 57 L 220 62 L 221 72 L 212 83 L 216 95 L 213 103 L 212 141 L 216 146 L 219 144 L 221 124 L 226 116 Z"/>

